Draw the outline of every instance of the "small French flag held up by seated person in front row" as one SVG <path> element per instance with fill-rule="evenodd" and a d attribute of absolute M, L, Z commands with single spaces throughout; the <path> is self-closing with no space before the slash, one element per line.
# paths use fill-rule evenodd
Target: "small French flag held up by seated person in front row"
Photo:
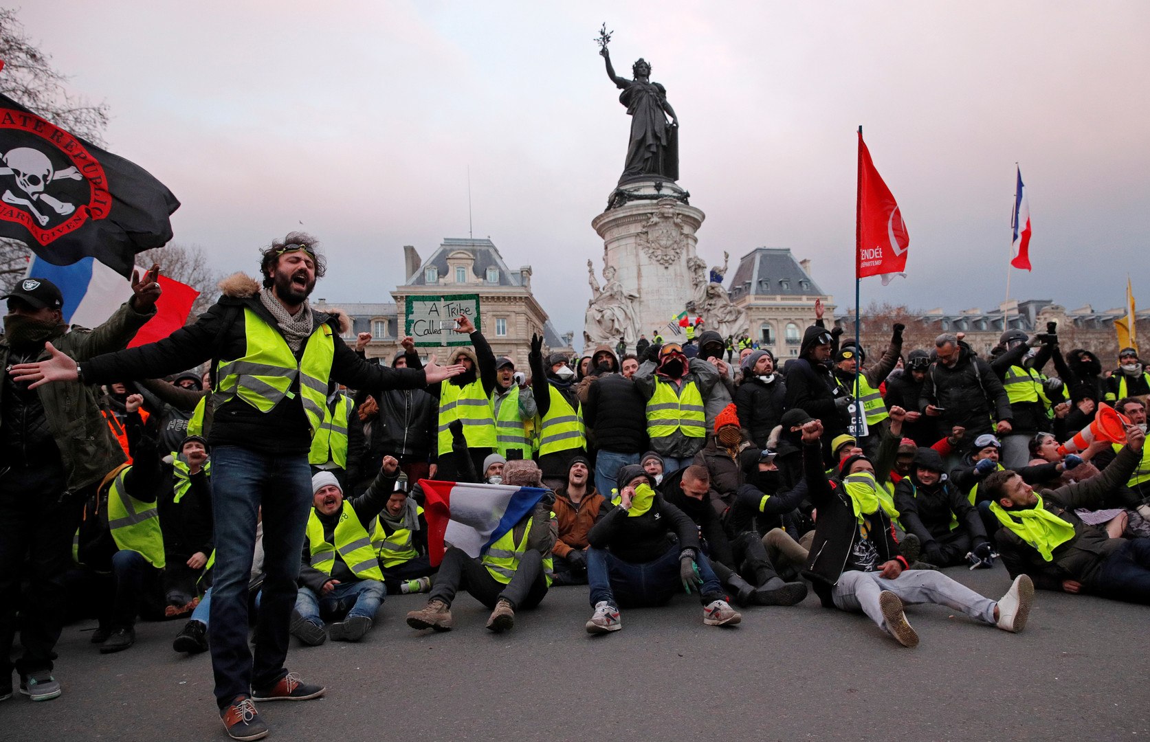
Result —
<path fill-rule="evenodd" d="M 428 556 L 443 561 L 444 542 L 477 558 L 531 512 L 546 494 L 539 487 L 421 479 L 427 497 Z"/>

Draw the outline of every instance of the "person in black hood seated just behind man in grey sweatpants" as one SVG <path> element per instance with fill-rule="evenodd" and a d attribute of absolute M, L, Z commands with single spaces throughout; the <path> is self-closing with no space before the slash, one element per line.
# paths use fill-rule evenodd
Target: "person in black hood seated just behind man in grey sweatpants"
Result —
<path fill-rule="evenodd" d="M 990 556 L 982 518 L 951 484 L 933 448 L 919 448 L 910 476 L 895 486 L 895 508 L 906 532 L 918 536 L 923 562 L 957 566 L 967 564 L 968 554 L 980 561 Z"/>

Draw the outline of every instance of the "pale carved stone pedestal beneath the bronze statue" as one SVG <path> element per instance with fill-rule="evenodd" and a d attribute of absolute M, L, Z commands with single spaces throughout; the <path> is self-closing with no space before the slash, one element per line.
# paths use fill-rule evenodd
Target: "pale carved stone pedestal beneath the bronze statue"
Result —
<path fill-rule="evenodd" d="M 586 343 L 614 347 L 623 324 L 620 317 L 632 318 L 623 334 L 629 348 L 641 333 L 650 339 L 653 330 L 672 337 L 667 323 L 695 299 L 697 263 L 702 263 L 695 246 L 705 215 L 687 201 L 687 192 L 669 180 L 628 183 L 612 193 L 607 210 L 591 222 L 603 238 L 604 286 L 596 292 L 592 283 Z"/>

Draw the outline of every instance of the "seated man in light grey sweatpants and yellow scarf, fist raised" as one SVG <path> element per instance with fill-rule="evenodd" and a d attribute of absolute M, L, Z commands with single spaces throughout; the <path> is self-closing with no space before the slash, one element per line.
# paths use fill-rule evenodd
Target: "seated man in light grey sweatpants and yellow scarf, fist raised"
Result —
<path fill-rule="evenodd" d="M 819 512 L 805 574 L 823 606 L 861 611 L 904 647 L 919 643 L 904 604 L 938 603 L 1003 631 L 1022 631 L 1034 600 L 1030 578 L 1015 578 L 996 603 L 942 572 L 908 570 L 881 504 L 874 466 L 865 456 L 852 457 L 842 482 L 833 482 L 822 471 L 821 436 L 818 420 L 803 426 L 808 496 Z"/>

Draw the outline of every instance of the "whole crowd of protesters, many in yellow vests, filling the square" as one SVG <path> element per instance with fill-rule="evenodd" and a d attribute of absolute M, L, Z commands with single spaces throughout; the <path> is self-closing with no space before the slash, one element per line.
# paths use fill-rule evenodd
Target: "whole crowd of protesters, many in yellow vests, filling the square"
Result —
<path fill-rule="evenodd" d="M 33 701 L 61 694 L 54 648 L 84 610 L 101 652 L 131 648 L 140 617 L 179 619 L 174 650 L 210 651 L 224 726 L 253 740 L 256 702 L 324 693 L 288 671 L 290 637 L 359 641 L 397 593 L 427 594 L 416 629 L 450 631 L 465 590 L 506 632 L 552 587 L 585 586 L 568 589 L 586 590 L 591 634 L 680 592 L 708 626 L 814 593 L 905 647 L 914 603 L 1007 632 L 1036 588 L 1150 603 L 1133 348 L 1107 374 L 1064 356 L 1055 326 L 983 358 L 953 334 L 904 348 L 896 324 L 868 357 L 820 316 L 781 365 L 691 327 L 582 358 L 536 335 L 520 369 L 460 317 L 470 345 L 446 365 L 411 338 L 376 361 L 369 334 L 348 347 L 347 318 L 310 307 L 325 263 L 291 233 L 260 280 L 225 279 L 193 324 L 125 349 L 156 270 L 94 330 L 62 323 L 45 279 L 5 297 L 0 701 L 13 671 Z M 422 480 L 543 494 L 478 556 L 450 533 L 436 552 Z M 946 574 L 996 559 L 997 598 Z"/>

